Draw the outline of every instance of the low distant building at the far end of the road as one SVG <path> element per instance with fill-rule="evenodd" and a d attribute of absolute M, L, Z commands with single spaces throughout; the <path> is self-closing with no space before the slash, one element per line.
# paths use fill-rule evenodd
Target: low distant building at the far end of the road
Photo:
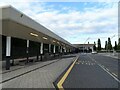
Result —
<path fill-rule="evenodd" d="M 74 44 L 74 46 L 77 48 L 77 52 L 90 53 L 93 51 L 94 44 Z"/>

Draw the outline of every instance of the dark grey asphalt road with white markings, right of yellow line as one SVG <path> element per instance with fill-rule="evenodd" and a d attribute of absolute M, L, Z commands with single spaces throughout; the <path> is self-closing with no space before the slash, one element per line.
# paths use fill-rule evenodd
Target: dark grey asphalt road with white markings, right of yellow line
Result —
<path fill-rule="evenodd" d="M 63 88 L 118 88 L 118 60 L 99 54 L 81 54 Z"/>

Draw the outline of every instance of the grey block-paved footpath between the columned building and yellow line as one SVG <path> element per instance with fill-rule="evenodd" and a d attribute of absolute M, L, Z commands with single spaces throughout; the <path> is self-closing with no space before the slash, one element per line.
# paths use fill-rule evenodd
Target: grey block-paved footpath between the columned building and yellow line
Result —
<path fill-rule="evenodd" d="M 3 88 L 54 88 L 53 82 L 76 59 L 77 54 L 21 68 L 2 75 Z M 74 56 L 74 57 L 71 57 Z M 48 64 L 48 65 L 46 65 Z M 45 66 L 46 65 L 46 66 Z"/>

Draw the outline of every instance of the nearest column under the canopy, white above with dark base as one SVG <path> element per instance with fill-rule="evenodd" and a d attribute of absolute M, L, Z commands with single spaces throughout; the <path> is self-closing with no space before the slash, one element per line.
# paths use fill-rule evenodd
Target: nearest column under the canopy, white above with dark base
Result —
<path fill-rule="evenodd" d="M 6 70 L 10 70 L 11 37 L 6 37 Z"/>

